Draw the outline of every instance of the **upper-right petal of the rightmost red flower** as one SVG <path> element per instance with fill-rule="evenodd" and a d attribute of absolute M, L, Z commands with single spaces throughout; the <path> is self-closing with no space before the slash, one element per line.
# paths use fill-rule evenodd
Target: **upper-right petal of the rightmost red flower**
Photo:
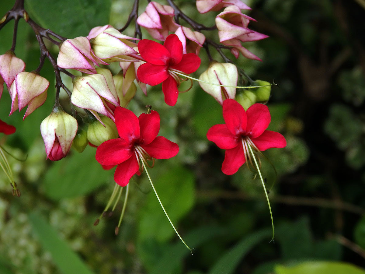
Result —
<path fill-rule="evenodd" d="M 271 121 L 269 108 L 264 104 L 253 104 L 246 111 L 247 128 L 246 133 L 251 138 L 260 136 L 268 128 Z"/>

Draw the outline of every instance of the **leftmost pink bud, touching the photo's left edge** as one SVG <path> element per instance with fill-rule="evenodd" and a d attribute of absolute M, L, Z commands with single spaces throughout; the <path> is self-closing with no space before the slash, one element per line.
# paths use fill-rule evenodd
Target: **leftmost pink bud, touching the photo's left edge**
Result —
<path fill-rule="evenodd" d="M 25 69 L 25 63 L 22 59 L 15 56 L 12 51 L 7 51 L 5 54 L 0 55 L 0 84 L 3 88 L 3 84 L 10 90 L 11 84 L 13 83 L 15 76 L 23 72 Z M 0 87 L 0 97 L 3 89 Z"/>

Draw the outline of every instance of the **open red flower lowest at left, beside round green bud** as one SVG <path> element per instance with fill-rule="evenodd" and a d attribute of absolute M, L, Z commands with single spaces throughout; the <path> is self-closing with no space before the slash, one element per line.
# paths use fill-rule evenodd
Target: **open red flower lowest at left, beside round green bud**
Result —
<path fill-rule="evenodd" d="M 160 131 L 157 111 L 142 113 L 137 118 L 132 111 L 116 107 L 114 114 L 120 138 L 103 142 L 95 157 L 103 166 L 118 165 L 114 180 L 120 186 L 126 186 L 134 174 L 141 175 L 141 159 L 145 162 L 153 158 L 169 159 L 178 153 L 177 144 L 157 136 Z"/>

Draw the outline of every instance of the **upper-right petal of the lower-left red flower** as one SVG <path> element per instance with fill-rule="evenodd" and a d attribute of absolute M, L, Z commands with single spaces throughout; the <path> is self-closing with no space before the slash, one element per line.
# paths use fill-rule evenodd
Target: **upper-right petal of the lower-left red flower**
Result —
<path fill-rule="evenodd" d="M 139 115 L 138 121 L 141 132 L 138 143 L 148 145 L 160 131 L 160 115 L 153 110 L 150 114 L 142 113 Z"/>

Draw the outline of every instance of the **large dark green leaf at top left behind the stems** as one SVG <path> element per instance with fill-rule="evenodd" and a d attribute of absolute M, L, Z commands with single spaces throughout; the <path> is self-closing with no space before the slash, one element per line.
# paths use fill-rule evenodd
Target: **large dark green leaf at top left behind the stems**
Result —
<path fill-rule="evenodd" d="M 111 0 L 27 0 L 26 9 L 43 28 L 74 38 L 109 23 Z"/>

